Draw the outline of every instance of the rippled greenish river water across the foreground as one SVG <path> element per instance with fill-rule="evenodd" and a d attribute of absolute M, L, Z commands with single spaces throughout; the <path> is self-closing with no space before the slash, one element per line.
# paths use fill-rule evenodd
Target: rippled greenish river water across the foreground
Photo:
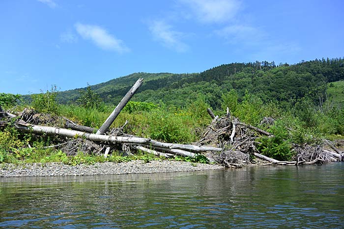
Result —
<path fill-rule="evenodd" d="M 0 228 L 344 228 L 344 163 L 0 178 Z"/>

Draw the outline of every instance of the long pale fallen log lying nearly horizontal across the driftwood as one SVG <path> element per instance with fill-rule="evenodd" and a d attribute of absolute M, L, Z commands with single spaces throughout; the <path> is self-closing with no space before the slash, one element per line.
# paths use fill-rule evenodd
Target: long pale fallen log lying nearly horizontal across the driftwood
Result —
<path fill-rule="evenodd" d="M 96 141 L 96 142 L 109 142 L 109 143 L 117 143 L 117 144 L 133 143 L 133 144 L 141 144 L 141 145 L 147 145 L 147 146 L 153 146 L 153 147 L 194 151 L 194 152 L 206 152 L 206 151 L 220 152 L 222 151 L 222 148 L 216 148 L 216 147 L 164 143 L 164 142 L 154 141 L 149 138 L 92 134 L 92 133 L 86 133 L 82 131 L 58 128 L 58 127 L 27 125 L 25 122 L 18 122 L 16 123 L 15 127 L 19 130 L 33 132 L 33 133 L 46 133 L 50 135 L 58 135 L 58 136 L 70 137 L 70 138 L 82 137 L 87 140 Z"/>

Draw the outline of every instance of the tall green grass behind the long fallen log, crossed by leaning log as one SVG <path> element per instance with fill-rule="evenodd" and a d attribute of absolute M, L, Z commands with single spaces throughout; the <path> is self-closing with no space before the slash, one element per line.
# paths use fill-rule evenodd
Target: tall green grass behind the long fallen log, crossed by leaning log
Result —
<path fill-rule="evenodd" d="M 200 107 L 200 104 L 198 104 Z M 206 104 L 204 107 L 207 107 Z M 99 128 L 113 111 L 96 108 L 84 108 L 77 105 L 59 105 L 58 114 L 80 125 Z M 192 112 L 193 109 L 196 112 Z M 123 110 L 115 119 L 112 127 L 121 127 L 128 120 L 124 131 L 129 134 L 153 138 L 165 142 L 190 143 L 200 137 L 198 129 L 211 121 L 206 113 L 194 108 L 179 109 L 175 107 L 156 106 L 152 110 Z"/>

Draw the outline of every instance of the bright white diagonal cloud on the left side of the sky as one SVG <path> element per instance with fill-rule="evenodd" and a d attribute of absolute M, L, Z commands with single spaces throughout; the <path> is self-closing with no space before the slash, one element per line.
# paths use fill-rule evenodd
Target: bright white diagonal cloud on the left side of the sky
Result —
<path fill-rule="evenodd" d="M 86 40 L 91 40 L 96 46 L 104 50 L 117 51 L 119 53 L 129 51 L 122 40 L 116 39 L 107 30 L 98 25 L 76 23 L 75 28 L 80 36 Z"/>

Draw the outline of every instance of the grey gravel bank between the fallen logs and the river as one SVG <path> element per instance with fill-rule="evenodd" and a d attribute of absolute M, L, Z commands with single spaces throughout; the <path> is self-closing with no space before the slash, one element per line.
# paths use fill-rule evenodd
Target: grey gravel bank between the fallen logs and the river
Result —
<path fill-rule="evenodd" d="M 196 165 L 196 166 L 194 166 Z M 181 161 L 142 160 L 125 163 L 103 162 L 94 165 L 80 164 L 76 166 L 63 163 L 32 163 L 25 165 L 0 164 L 0 177 L 45 177 L 45 176 L 84 176 L 137 173 L 165 173 L 213 170 L 224 168 L 220 165 L 208 165 Z"/>

